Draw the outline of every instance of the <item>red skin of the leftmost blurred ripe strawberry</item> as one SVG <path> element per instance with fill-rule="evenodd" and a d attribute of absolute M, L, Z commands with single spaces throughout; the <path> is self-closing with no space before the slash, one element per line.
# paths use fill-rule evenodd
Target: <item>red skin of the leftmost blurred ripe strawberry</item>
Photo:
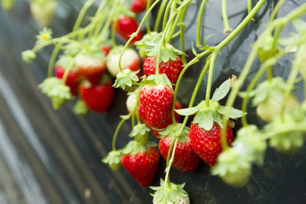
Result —
<path fill-rule="evenodd" d="M 54 72 L 56 77 L 62 79 L 65 72 L 65 68 L 60 65 L 55 66 Z M 67 76 L 66 85 L 70 87 L 70 92 L 73 96 L 77 96 L 79 84 L 80 84 L 79 73 L 71 69 Z"/>

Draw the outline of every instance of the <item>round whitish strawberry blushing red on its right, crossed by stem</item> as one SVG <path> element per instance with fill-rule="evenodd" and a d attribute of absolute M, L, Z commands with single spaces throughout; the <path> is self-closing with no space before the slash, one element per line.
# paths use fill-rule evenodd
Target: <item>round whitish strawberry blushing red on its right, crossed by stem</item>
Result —
<path fill-rule="evenodd" d="M 117 46 L 111 49 L 111 51 L 106 57 L 107 70 L 114 77 L 116 77 L 117 74 L 120 72 L 119 58 L 120 58 L 122 49 L 123 49 L 123 46 Z M 133 50 L 132 48 L 125 49 L 121 57 L 121 68 L 123 70 L 129 68 L 132 71 L 138 71 L 140 70 L 140 67 L 141 67 L 141 63 L 140 63 L 140 58 L 137 52 Z M 137 76 L 140 77 L 140 74 L 137 74 Z"/>

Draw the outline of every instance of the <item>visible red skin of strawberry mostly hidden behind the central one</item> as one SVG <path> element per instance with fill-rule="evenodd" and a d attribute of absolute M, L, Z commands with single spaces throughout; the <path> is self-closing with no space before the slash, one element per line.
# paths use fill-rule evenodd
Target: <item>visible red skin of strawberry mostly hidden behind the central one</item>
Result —
<path fill-rule="evenodd" d="M 182 105 L 181 105 L 181 103 L 180 103 L 178 100 L 175 101 L 175 107 L 174 107 L 174 109 L 182 109 Z M 159 137 L 160 137 L 161 135 L 158 133 L 158 131 L 152 129 L 151 126 L 149 125 L 149 123 L 148 123 L 148 121 L 147 121 L 147 118 L 146 118 L 145 111 L 144 111 L 144 106 L 143 106 L 141 103 L 139 103 L 138 112 L 139 112 L 140 119 L 144 122 L 144 124 L 146 124 L 148 127 L 150 127 L 150 129 L 151 129 L 153 135 L 155 136 L 155 138 L 157 138 L 157 139 L 160 140 Z M 176 121 L 177 123 L 179 123 L 180 120 L 181 120 L 181 115 L 179 115 L 177 112 L 174 112 L 174 117 L 175 117 L 175 121 Z M 170 111 L 169 114 L 168 114 L 168 117 L 167 117 L 167 119 L 166 119 L 166 121 L 165 121 L 165 123 L 164 123 L 163 125 L 161 125 L 161 126 L 159 127 L 159 129 L 166 128 L 166 127 L 168 127 L 168 125 L 171 125 L 172 123 L 173 123 L 173 120 L 172 120 L 172 113 L 171 113 L 171 111 Z"/>

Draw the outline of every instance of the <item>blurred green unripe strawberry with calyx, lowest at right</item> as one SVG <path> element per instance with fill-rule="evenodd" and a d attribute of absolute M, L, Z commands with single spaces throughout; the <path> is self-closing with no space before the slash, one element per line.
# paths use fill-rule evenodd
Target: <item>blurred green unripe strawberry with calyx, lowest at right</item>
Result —
<path fill-rule="evenodd" d="M 233 146 L 218 156 L 218 161 L 211 170 L 212 175 L 218 175 L 227 184 L 233 187 L 244 186 L 252 172 L 251 158 L 245 149 Z"/>

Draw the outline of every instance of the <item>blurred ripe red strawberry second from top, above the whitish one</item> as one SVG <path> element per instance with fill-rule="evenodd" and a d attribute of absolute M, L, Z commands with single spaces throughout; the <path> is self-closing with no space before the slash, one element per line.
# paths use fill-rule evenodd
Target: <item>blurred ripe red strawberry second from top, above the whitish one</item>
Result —
<path fill-rule="evenodd" d="M 125 15 L 121 15 L 118 18 L 117 26 L 116 26 L 116 32 L 120 34 L 125 40 L 130 39 L 130 35 L 132 35 L 134 32 L 137 31 L 139 27 L 139 24 L 135 17 L 129 17 Z M 138 41 L 142 38 L 142 32 L 137 34 L 135 38 L 131 41 L 131 43 L 134 43 L 135 41 Z"/>

